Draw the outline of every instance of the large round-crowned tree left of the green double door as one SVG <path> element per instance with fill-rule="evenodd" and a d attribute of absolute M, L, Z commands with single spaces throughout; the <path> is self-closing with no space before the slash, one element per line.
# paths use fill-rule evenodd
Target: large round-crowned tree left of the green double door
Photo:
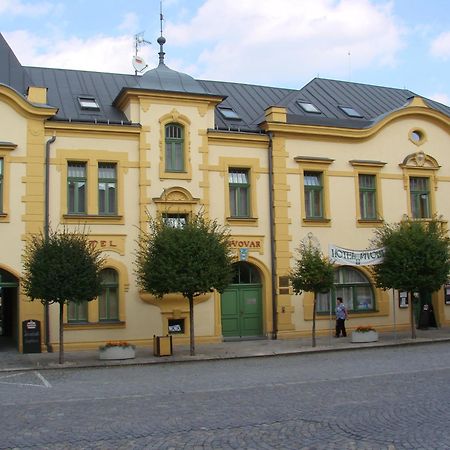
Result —
<path fill-rule="evenodd" d="M 188 300 L 191 355 L 195 355 L 194 298 L 213 290 L 222 293 L 229 285 L 233 274 L 229 248 L 228 230 L 202 213 L 179 227 L 164 217 L 150 218 L 149 231 L 141 232 L 137 283 L 161 299 L 179 292 Z"/>

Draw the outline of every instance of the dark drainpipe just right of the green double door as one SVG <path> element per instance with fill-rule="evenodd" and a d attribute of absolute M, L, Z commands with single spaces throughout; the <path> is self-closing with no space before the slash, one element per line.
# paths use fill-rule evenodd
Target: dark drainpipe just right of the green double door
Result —
<path fill-rule="evenodd" d="M 272 132 L 269 136 L 269 215 L 270 215 L 270 270 L 272 273 L 272 339 L 277 339 L 278 334 L 278 305 L 277 305 L 277 262 L 275 254 L 275 201 L 274 201 L 274 181 L 273 181 L 273 140 Z"/>

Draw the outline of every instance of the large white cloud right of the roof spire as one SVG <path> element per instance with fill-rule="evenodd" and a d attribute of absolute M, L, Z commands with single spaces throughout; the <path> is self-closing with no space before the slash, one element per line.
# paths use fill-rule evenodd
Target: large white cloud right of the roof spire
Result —
<path fill-rule="evenodd" d="M 189 22 L 168 22 L 166 34 L 171 45 L 203 49 L 194 76 L 298 85 L 318 73 L 347 77 L 350 66 L 395 65 L 403 29 L 391 7 L 369 0 L 206 0 Z"/>

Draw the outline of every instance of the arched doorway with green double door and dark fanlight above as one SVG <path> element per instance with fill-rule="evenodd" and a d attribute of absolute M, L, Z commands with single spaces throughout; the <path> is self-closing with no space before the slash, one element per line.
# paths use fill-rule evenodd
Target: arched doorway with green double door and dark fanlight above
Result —
<path fill-rule="evenodd" d="M 221 296 L 221 310 L 224 339 L 262 336 L 262 284 L 255 266 L 247 262 L 234 264 L 233 281 Z"/>

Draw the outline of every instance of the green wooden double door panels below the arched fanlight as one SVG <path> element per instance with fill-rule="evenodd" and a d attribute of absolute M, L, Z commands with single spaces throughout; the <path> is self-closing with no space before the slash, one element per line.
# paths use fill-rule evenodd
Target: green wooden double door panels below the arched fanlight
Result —
<path fill-rule="evenodd" d="M 230 285 L 222 294 L 222 334 L 224 337 L 262 335 L 261 285 Z"/>

